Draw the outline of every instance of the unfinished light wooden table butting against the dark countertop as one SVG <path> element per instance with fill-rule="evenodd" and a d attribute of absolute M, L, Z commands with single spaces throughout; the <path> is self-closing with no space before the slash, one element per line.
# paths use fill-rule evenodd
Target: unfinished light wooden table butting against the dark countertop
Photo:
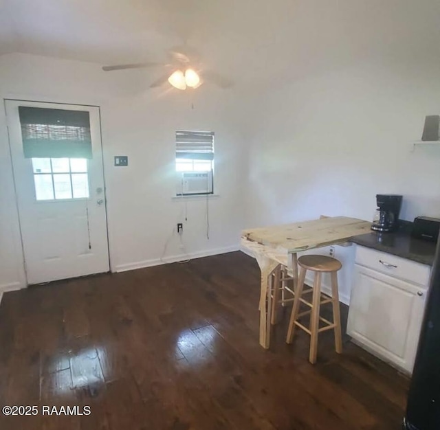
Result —
<path fill-rule="evenodd" d="M 294 278 L 298 279 L 296 253 L 338 245 L 353 236 L 369 233 L 371 223 L 345 216 L 321 218 L 273 227 L 245 229 L 241 234 L 241 245 L 250 252 L 261 269 L 260 295 L 260 345 L 270 346 L 270 320 L 272 312 L 271 288 L 272 273 L 279 264 L 287 266 L 289 256 L 294 265 Z"/>

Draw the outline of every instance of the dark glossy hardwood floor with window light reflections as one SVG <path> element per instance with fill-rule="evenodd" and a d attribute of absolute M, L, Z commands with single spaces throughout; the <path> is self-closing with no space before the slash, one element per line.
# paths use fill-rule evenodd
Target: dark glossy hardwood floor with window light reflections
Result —
<path fill-rule="evenodd" d="M 236 252 L 6 293 L 0 405 L 91 414 L 0 429 L 400 429 L 408 379 L 347 337 L 338 355 L 322 333 L 311 365 L 305 332 L 285 344 L 285 315 L 259 346 L 259 276 Z"/>

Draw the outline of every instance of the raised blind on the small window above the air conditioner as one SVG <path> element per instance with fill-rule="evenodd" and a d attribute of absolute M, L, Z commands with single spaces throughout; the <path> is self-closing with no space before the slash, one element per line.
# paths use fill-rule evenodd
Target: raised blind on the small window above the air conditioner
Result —
<path fill-rule="evenodd" d="M 213 131 L 176 131 L 176 158 L 214 159 Z"/>

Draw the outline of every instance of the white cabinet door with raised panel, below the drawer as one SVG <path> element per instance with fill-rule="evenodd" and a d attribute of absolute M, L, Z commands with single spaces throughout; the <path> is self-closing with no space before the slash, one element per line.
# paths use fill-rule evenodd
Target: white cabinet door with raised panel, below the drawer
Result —
<path fill-rule="evenodd" d="M 412 372 L 426 288 L 355 265 L 348 334 L 377 356 Z"/>

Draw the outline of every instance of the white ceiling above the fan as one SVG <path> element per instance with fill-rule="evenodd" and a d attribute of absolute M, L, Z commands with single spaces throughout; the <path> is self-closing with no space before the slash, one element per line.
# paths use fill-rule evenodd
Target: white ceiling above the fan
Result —
<path fill-rule="evenodd" d="M 104 65 L 166 60 L 186 42 L 242 82 L 353 60 L 438 63 L 439 41 L 438 0 L 0 0 L 0 54 Z"/>

